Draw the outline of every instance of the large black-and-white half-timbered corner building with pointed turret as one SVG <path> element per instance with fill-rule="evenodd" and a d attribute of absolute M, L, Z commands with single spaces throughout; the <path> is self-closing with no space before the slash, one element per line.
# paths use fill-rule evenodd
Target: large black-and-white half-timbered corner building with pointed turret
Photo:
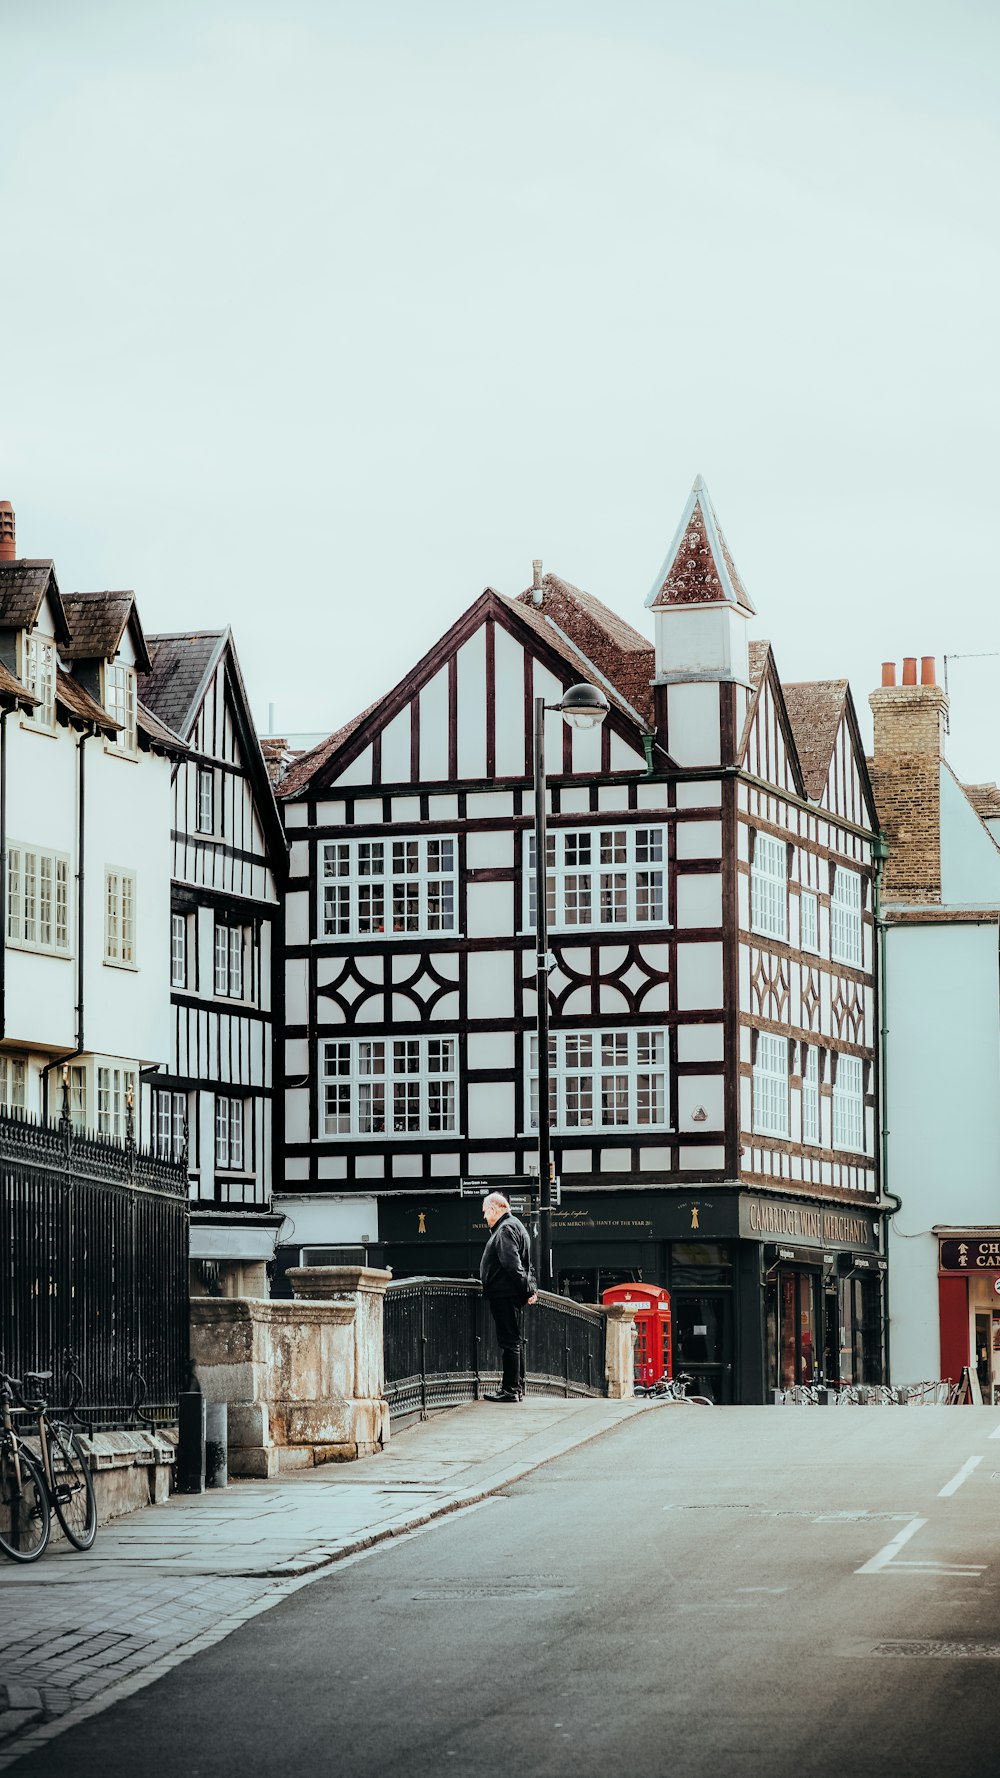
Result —
<path fill-rule="evenodd" d="M 881 1374 L 874 809 L 701 480 L 648 605 L 536 564 L 286 770 L 281 1257 L 464 1275 L 459 1182 L 532 1172 L 532 711 L 589 679 L 603 727 L 546 718 L 553 1273 L 669 1285 L 678 1362 L 760 1401 Z"/>

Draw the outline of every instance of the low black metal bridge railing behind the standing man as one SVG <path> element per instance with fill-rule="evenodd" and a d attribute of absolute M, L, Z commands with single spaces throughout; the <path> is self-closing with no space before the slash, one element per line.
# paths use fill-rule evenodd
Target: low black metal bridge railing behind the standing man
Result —
<path fill-rule="evenodd" d="M 605 1316 L 539 1294 L 525 1310 L 528 1394 L 603 1396 Z M 475 1278 L 400 1278 L 384 1296 L 386 1399 L 393 1415 L 477 1401 L 500 1376 L 489 1307 Z"/>

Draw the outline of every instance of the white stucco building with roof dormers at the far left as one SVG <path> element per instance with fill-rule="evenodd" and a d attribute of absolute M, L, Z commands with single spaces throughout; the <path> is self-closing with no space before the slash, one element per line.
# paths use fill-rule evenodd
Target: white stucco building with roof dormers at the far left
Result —
<path fill-rule="evenodd" d="M 169 1053 L 171 757 L 130 592 L 62 596 L 0 503 L 0 1106 L 149 1140 Z"/>

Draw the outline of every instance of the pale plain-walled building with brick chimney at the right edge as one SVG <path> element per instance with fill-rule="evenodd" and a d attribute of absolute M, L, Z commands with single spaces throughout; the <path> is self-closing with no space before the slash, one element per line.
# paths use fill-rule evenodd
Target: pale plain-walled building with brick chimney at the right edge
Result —
<path fill-rule="evenodd" d="M 945 759 L 934 661 L 883 669 L 883 1024 L 893 1383 L 1000 1385 L 1000 791 Z"/>

